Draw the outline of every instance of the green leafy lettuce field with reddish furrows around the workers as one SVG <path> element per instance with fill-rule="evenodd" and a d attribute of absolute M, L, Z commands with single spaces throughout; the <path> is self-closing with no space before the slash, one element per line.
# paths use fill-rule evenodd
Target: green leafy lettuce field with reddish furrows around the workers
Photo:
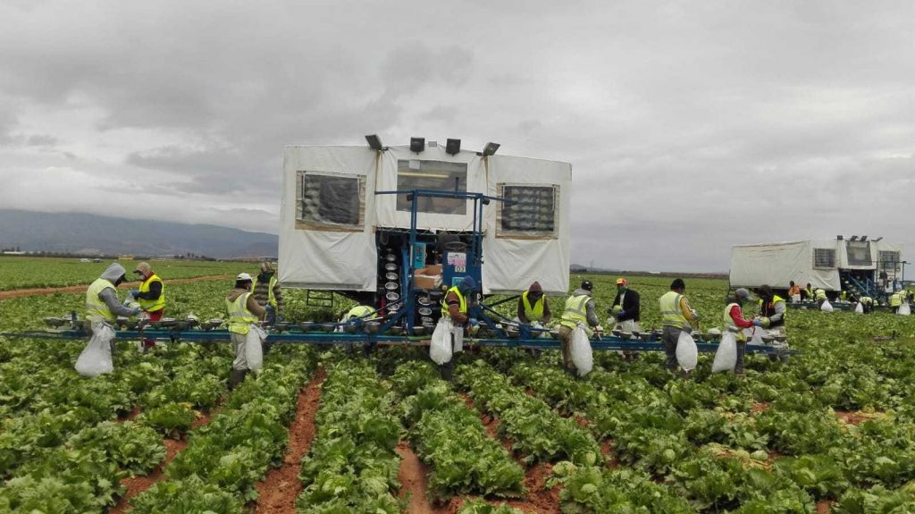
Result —
<path fill-rule="evenodd" d="M 93 270 L 47 281 L 4 267 L 0 289 L 103 268 L 80 265 Z M 231 287 L 170 278 L 244 266 L 157 270 L 168 316 L 221 316 Z M 587 278 L 603 318 L 616 277 Z M 671 278 L 629 278 L 657 327 Z M 727 283 L 686 284 L 703 328 L 720 326 Z M 348 306 L 286 293 L 293 321 Z M 82 301 L 0 300 L 0 331 Z M 83 379 L 85 341 L 0 337 L 0 512 L 915 512 L 915 318 L 791 310 L 787 324 L 799 353 L 748 357 L 743 378 L 711 374 L 710 354 L 682 380 L 660 353 L 596 352 L 575 379 L 558 351 L 490 349 L 460 355 L 447 382 L 427 348 L 286 344 L 234 391 L 228 341 L 141 354 L 120 340 L 114 372 Z"/>

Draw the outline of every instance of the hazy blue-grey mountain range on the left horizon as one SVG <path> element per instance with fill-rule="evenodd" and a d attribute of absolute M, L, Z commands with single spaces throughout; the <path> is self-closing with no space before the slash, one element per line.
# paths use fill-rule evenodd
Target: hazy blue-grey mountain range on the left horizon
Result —
<path fill-rule="evenodd" d="M 279 238 L 217 225 L 0 209 L 0 248 L 86 255 L 275 257 Z"/>

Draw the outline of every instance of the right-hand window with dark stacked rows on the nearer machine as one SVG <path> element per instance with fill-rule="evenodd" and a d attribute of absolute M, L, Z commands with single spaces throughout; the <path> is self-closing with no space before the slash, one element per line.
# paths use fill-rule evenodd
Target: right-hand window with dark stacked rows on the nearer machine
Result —
<path fill-rule="evenodd" d="M 555 237 L 559 187 L 501 184 L 499 230 L 504 237 Z"/>

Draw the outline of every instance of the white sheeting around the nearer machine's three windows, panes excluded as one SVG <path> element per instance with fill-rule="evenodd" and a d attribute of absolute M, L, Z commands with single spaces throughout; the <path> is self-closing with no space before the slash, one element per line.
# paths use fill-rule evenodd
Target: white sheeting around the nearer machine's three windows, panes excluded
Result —
<path fill-rule="evenodd" d="M 511 155 L 483 158 L 476 152 L 447 155 L 444 146 L 426 146 L 421 154 L 407 146 L 392 146 L 380 156 L 364 146 L 290 146 L 285 149 L 283 201 L 281 204 L 279 280 L 285 286 L 312 289 L 372 291 L 377 287 L 375 230 L 410 227 L 410 212 L 397 209 L 395 195 L 376 196 L 376 191 L 396 190 L 399 166 L 408 171 L 435 170 L 436 162 L 463 172 L 468 192 L 499 196 L 501 185 L 556 187 L 553 234 L 510 237 L 497 234 L 496 202 L 483 208 L 483 293 L 520 293 L 538 281 L 546 294 L 566 294 L 571 236 L 569 204 L 572 166 Z M 364 177 L 364 226 L 305 227 L 296 223 L 296 193 L 299 172 Z M 433 174 L 434 171 L 433 171 Z M 447 174 L 441 174 L 447 175 Z M 464 213 L 420 212 L 417 226 L 424 230 L 471 230 L 473 202 Z M 362 221 L 361 221 L 362 222 Z"/>

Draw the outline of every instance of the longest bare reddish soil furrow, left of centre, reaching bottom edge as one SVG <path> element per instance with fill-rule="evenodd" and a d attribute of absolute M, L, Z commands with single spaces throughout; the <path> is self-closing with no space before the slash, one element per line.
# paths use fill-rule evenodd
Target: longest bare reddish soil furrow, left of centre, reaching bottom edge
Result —
<path fill-rule="evenodd" d="M 267 472 L 257 485 L 260 496 L 254 514 L 295 514 L 296 497 L 302 491 L 302 483 L 298 480 L 299 462 L 315 439 L 315 413 L 325 378 L 322 369 L 305 389 L 299 391 L 296 418 L 289 425 L 289 443 L 283 464 Z"/>

